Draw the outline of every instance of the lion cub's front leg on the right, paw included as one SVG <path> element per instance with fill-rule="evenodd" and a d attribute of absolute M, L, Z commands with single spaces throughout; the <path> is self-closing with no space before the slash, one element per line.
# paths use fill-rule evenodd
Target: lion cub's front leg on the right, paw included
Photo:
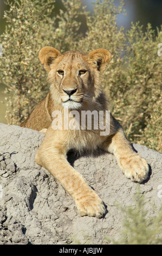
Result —
<path fill-rule="evenodd" d="M 145 159 L 135 153 L 120 128 L 112 137 L 110 143 L 105 143 L 105 149 L 113 153 L 122 172 L 132 181 L 142 182 L 148 176 L 148 164 Z"/>

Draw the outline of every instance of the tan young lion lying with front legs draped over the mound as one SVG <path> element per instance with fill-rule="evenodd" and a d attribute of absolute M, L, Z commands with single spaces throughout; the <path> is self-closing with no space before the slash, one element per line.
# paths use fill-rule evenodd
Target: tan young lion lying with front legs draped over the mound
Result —
<path fill-rule="evenodd" d="M 148 164 L 133 151 L 122 127 L 112 115 L 109 135 L 100 136 L 100 129 L 87 130 L 87 126 L 86 130 L 54 130 L 51 114 L 59 110 L 64 117 L 64 107 L 68 107 L 68 112 L 76 109 L 80 115 L 83 110 L 106 111 L 108 108 L 101 87 L 101 75 L 111 60 L 111 54 L 103 48 L 89 54 L 80 51 L 61 54 L 47 46 L 41 49 L 39 57 L 48 72 L 50 92 L 21 126 L 46 132 L 36 153 L 36 162 L 49 170 L 72 195 L 81 216 L 101 217 L 105 214 L 102 200 L 87 185 L 82 175 L 70 166 L 67 152 L 70 149 L 80 153 L 98 147 L 104 149 L 116 156 L 127 178 L 138 182 L 147 178 Z M 73 91 L 70 96 L 69 91 Z M 68 100 L 69 97 L 71 100 Z"/>

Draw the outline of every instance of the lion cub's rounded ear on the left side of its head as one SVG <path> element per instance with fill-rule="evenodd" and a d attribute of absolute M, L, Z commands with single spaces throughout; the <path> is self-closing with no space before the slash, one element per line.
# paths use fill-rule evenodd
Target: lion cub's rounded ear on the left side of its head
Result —
<path fill-rule="evenodd" d="M 56 59 L 61 53 L 53 47 L 44 46 L 39 52 L 39 58 L 41 63 L 44 65 L 44 69 L 47 72 L 50 71 L 50 64 Z"/>

